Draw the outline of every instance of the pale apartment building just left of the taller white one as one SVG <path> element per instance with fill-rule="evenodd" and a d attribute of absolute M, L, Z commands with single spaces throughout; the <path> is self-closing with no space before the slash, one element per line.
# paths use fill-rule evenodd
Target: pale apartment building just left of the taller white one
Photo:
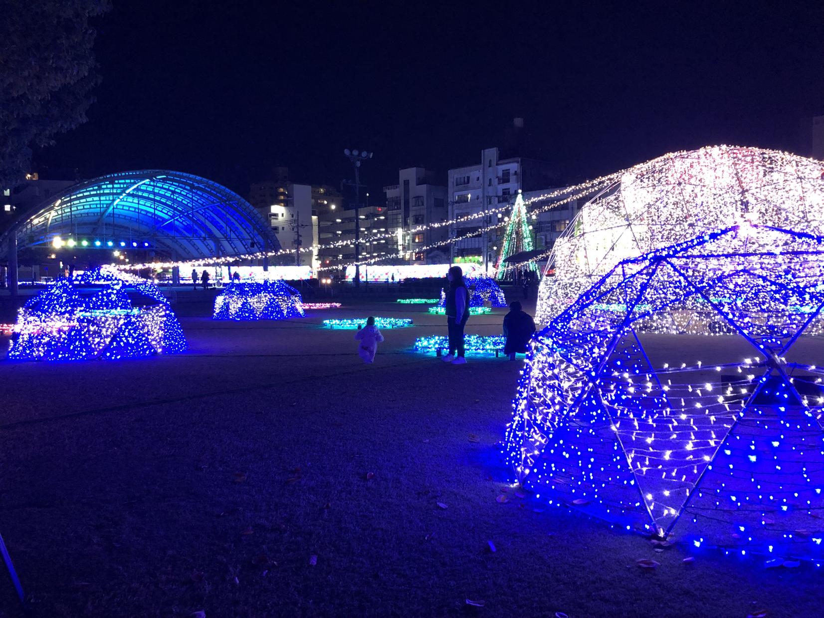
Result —
<path fill-rule="evenodd" d="M 407 167 L 398 172 L 397 185 L 383 188 L 386 227 L 396 232 L 391 246 L 405 255 L 406 264 L 442 264 L 449 259 L 447 246 L 432 246 L 447 240 L 447 226 L 412 231 L 418 226 L 447 220 L 447 188 L 435 185 L 433 176 L 423 167 Z"/>

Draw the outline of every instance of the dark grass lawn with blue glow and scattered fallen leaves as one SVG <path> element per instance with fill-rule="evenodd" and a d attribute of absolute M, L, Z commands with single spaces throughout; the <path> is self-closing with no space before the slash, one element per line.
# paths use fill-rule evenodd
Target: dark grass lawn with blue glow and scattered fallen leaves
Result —
<path fill-rule="evenodd" d="M 415 325 L 366 366 L 320 324 L 370 310 Z M 0 532 L 34 616 L 822 615 L 810 564 L 684 564 L 518 497 L 494 444 L 522 363 L 410 353 L 446 334 L 425 306 L 181 322 L 179 356 L 0 363 Z"/>

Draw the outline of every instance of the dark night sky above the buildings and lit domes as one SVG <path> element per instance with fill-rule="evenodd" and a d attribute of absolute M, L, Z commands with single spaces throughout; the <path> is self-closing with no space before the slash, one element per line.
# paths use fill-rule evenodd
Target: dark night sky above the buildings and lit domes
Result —
<path fill-rule="evenodd" d="M 190 171 L 246 195 L 274 164 L 339 185 L 344 147 L 442 174 L 503 145 L 566 180 L 716 143 L 798 150 L 824 113 L 824 2 L 112 0 L 89 121 L 41 177 Z M 631 8 L 630 8 L 631 7 Z"/>

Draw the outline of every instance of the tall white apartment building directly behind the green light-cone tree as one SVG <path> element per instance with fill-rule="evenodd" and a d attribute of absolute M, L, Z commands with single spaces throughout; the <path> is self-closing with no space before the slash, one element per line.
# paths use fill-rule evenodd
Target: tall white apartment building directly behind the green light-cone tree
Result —
<path fill-rule="evenodd" d="M 448 172 L 450 219 L 467 214 L 481 213 L 487 208 L 498 208 L 514 202 L 518 190 L 524 192 L 550 186 L 555 172 L 547 162 L 527 157 L 501 159 L 498 148 L 485 148 L 480 153 L 480 163 L 456 167 Z M 486 216 L 471 219 L 449 227 L 451 237 L 466 236 L 492 224 L 494 218 Z M 472 236 L 452 243 L 450 262 L 476 261 L 487 272 L 492 269 L 497 249 L 503 236 L 503 227 L 492 232 Z"/>

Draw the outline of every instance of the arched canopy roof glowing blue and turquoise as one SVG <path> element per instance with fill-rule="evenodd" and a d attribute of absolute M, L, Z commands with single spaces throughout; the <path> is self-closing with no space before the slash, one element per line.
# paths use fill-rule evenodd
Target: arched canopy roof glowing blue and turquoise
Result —
<path fill-rule="evenodd" d="M 57 236 L 78 248 L 138 247 L 172 260 L 280 248 L 264 218 L 240 195 L 168 170 L 83 181 L 51 196 L 17 228 L 20 246 L 50 245 Z"/>

